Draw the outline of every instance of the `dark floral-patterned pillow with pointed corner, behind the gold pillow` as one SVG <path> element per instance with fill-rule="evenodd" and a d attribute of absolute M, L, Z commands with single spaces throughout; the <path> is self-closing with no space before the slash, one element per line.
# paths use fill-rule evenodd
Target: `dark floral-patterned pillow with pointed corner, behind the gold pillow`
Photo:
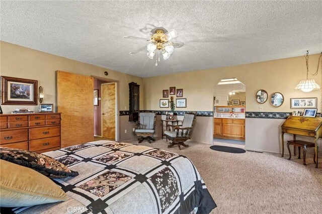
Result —
<path fill-rule="evenodd" d="M 78 172 L 71 171 L 59 161 L 36 152 L 0 147 L 0 159 L 32 168 L 49 178 L 78 175 Z"/>

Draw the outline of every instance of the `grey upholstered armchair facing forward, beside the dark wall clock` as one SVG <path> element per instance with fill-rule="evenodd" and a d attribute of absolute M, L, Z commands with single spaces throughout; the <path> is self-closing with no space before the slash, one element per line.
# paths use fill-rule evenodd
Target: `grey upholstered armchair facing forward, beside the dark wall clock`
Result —
<path fill-rule="evenodd" d="M 149 143 L 155 141 L 153 135 L 155 132 L 155 113 L 152 112 L 141 112 L 139 114 L 139 123 L 136 126 L 135 134 L 137 140 L 141 143 L 144 140 L 147 140 Z"/>

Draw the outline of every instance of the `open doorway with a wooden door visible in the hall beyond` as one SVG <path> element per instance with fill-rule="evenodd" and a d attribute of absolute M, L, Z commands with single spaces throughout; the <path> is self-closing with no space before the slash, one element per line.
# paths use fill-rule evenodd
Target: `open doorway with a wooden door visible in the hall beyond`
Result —
<path fill-rule="evenodd" d="M 94 78 L 94 136 L 96 140 L 119 140 L 117 82 Z"/>

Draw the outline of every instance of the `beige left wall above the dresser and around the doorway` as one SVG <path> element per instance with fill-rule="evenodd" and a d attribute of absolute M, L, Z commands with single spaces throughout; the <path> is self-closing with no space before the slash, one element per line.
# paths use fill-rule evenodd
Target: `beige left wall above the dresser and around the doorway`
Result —
<path fill-rule="evenodd" d="M 0 63 L 0 75 L 2 76 L 38 80 L 38 86 L 43 86 L 45 93 L 43 103 L 54 103 L 55 109 L 57 106 L 56 70 L 118 80 L 120 111 L 128 110 L 129 108 L 128 83 L 132 81 L 137 82 L 137 84 L 140 85 L 140 109 L 144 109 L 143 79 L 137 76 L 109 70 L 107 68 L 67 59 L 3 41 L 0 42 Z M 109 75 L 105 76 L 104 71 L 108 71 Z M 82 92 L 82 88 L 79 88 L 79 92 Z M 1 107 L 4 113 L 11 113 L 16 108 L 24 107 L 27 107 L 34 112 L 39 112 L 38 105 L 1 105 Z M 128 116 L 122 117 L 126 117 L 128 119 Z M 122 120 L 122 124 L 124 124 L 124 120 Z M 126 139 L 123 134 L 124 131 L 120 131 L 120 140 Z"/>

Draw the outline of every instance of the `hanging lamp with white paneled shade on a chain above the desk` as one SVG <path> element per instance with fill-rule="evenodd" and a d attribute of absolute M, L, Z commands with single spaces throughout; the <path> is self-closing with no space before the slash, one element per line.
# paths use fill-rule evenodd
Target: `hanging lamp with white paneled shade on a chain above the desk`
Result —
<path fill-rule="evenodd" d="M 320 89 L 320 86 L 315 82 L 314 79 L 308 79 L 308 51 L 306 51 L 306 54 L 304 55 L 305 57 L 305 61 L 306 61 L 306 79 L 301 80 L 296 87 L 294 88 L 294 90 L 301 90 L 304 92 L 310 92 L 312 90 L 317 90 Z M 318 71 L 318 67 L 320 62 L 322 61 L 322 52 L 321 55 L 318 58 L 318 62 L 317 62 L 317 69 L 315 73 L 310 73 L 312 76 L 316 76 L 317 75 L 317 71 Z M 322 64 L 322 62 L 321 62 Z M 322 65 L 321 65 L 322 67 Z"/>

